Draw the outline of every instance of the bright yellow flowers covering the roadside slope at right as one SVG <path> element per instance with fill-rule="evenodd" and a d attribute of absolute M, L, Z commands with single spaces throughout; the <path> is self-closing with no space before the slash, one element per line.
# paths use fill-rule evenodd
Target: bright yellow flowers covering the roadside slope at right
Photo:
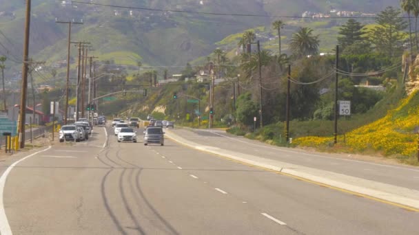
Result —
<path fill-rule="evenodd" d="M 383 155 L 411 156 L 417 153 L 418 134 L 413 132 L 417 126 L 419 94 L 415 92 L 382 119 L 347 133 L 345 146 L 358 152 L 374 149 Z M 339 137 L 340 140 L 342 138 Z M 333 142 L 333 137 L 300 137 L 293 144 L 318 148 L 330 142 Z"/>

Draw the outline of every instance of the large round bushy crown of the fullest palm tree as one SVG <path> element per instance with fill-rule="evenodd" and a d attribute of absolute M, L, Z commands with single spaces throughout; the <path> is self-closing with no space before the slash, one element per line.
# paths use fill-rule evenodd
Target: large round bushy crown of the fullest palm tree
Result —
<path fill-rule="evenodd" d="M 292 34 L 289 47 L 296 56 L 309 56 L 318 54 L 318 35 L 313 35 L 313 30 L 309 27 L 300 27 L 298 32 Z"/>

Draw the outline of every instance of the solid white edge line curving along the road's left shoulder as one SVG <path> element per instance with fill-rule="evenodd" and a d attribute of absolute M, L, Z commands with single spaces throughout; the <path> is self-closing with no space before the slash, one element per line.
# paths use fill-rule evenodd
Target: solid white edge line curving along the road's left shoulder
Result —
<path fill-rule="evenodd" d="M 42 153 L 42 152 L 45 152 L 46 150 L 50 150 L 50 148 L 51 148 L 51 146 L 49 146 L 48 148 L 46 148 L 44 150 L 41 150 L 37 153 L 32 153 L 29 156 L 23 157 L 19 161 L 15 161 L 14 164 L 10 165 L 4 171 L 3 175 L 1 175 L 1 177 L 0 177 L 0 222 L 1 222 L 0 223 L 0 234 L 1 235 L 11 235 L 12 234 L 12 230 L 10 229 L 8 217 L 6 216 L 6 211 L 4 210 L 4 204 L 3 204 L 4 186 L 6 185 L 6 179 L 9 175 L 10 171 L 14 168 L 14 166 L 19 164 L 21 161 L 25 161 L 25 159 L 28 159 L 29 157 L 37 155 L 38 153 Z"/>

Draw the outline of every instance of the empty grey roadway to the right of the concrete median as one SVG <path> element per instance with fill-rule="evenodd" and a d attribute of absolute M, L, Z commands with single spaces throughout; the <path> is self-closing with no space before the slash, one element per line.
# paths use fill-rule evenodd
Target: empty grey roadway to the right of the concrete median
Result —
<path fill-rule="evenodd" d="M 251 139 L 245 139 L 244 137 L 229 135 L 223 131 L 175 129 L 174 133 L 205 146 L 214 146 L 237 153 L 276 159 L 290 164 L 419 190 L 419 168 L 417 167 L 376 164 L 368 161 L 336 157 L 333 154 L 280 148 Z"/>

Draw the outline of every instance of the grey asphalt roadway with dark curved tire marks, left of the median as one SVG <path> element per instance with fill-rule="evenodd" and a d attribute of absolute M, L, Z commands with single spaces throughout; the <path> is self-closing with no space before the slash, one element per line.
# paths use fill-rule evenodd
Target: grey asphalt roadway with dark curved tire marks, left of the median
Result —
<path fill-rule="evenodd" d="M 215 134 L 197 135 L 209 144 Z M 241 148 L 221 140 L 220 148 Z M 170 139 L 165 146 L 118 143 L 110 127 L 94 128 L 88 142 L 54 144 L 11 169 L 13 162 L 0 162 L 5 234 L 418 234 L 418 212 Z"/>

